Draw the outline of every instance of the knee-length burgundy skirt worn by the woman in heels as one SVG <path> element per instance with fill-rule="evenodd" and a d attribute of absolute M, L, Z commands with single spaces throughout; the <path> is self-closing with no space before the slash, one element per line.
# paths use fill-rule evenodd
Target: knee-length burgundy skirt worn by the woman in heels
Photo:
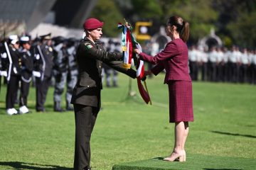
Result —
<path fill-rule="evenodd" d="M 169 122 L 192 122 L 192 82 L 169 81 Z"/>

